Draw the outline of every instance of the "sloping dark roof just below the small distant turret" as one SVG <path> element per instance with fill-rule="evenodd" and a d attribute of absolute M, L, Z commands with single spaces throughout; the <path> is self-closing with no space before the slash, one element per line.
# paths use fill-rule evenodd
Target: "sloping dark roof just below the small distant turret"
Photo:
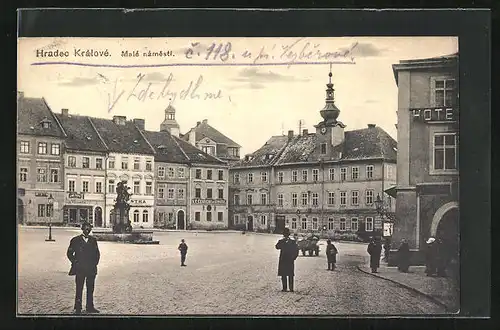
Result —
<path fill-rule="evenodd" d="M 221 160 L 201 151 L 188 142 L 173 136 L 167 131 L 142 131 L 155 149 L 155 161 L 165 163 L 198 163 L 226 165 Z"/>

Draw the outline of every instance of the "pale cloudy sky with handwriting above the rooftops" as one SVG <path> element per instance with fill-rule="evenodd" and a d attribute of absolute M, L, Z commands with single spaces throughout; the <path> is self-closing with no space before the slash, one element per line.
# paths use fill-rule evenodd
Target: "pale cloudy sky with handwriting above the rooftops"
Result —
<path fill-rule="evenodd" d="M 207 119 L 244 155 L 273 135 L 315 131 L 330 62 L 345 129 L 376 124 L 396 138 L 392 65 L 455 53 L 458 38 L 19 38 L 18 50 L 18 91 L 56 113 L 141 118 L 158 131 L 172 104 L 181 133 Z"/>

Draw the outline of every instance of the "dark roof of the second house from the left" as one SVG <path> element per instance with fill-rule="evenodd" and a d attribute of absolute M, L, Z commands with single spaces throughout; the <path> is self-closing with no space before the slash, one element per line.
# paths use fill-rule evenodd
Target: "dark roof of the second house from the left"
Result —
<path fill-rule="evenodd" d="M 66 132 L 64 144 L 70 150 L 106 152 L 107 148 L 95 131 L 89 117 L 54 114 Z"/>

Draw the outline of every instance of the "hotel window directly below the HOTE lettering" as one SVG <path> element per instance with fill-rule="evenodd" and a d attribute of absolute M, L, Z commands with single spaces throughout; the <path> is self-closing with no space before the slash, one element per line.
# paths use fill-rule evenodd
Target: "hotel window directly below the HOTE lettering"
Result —
<path fill-rule="evenodd" d="M 434 170 L 457 169 L 456 133 L 434 134 Z"/>

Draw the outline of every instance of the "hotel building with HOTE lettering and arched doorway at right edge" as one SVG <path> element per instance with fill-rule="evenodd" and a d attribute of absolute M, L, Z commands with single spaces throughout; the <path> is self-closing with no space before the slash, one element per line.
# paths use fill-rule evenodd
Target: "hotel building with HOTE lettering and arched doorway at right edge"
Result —
<path fill-rule="evenodd" d="M 458 53 L 393 65 L 398 86 L 398 171 L 394 239 L 413 263 L 425 241 L 441 239 L 458 260 Z"/>

